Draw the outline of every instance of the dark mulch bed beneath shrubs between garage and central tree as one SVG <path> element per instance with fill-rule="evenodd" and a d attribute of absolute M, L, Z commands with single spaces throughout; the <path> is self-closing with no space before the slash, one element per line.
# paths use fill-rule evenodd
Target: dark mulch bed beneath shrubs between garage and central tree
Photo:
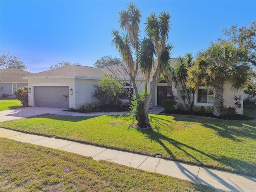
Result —
<path fill-rule="evenodd" d="M 78 112 L 78 113 L 95 113 L 95 112 L 124 112 L 129 111 L 129 106 L 99 106 L 97 108 L 93 108 L 92 111 L 86 112 L 79 109 L 74 109 L 72 112 Z M 65 110 L 65 111 L 71 111 L 71 110 Z"/>

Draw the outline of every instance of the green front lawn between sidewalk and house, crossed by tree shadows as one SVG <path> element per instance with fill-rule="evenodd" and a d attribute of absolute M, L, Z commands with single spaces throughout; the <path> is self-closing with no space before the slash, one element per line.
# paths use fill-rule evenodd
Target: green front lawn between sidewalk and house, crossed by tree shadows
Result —
<path fill-rule="evenodd" d="M 136 130 L 131 115 L 45 114 L 1 127 L 256 176 L 256 121 L 151 114 L 152 130 Z"/>

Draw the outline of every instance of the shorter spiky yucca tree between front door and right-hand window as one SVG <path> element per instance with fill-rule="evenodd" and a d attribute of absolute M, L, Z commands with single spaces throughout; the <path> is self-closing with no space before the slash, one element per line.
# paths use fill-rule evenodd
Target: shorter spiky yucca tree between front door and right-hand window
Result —
<path fill-rule="evenodd" d="M 178 57 L 175 66 L 170 66 L 164 70 L 164 76 L 169 85 L 174 84 L 174 87 L 181 96 L 188 112 L 193 111 L 194 95 L 197 86 L 190 86 L 188 84 L 189 76 L 188 71 L 191 69 L 193 62 L 192 54 L 187 52 L 184 57 Z"/>

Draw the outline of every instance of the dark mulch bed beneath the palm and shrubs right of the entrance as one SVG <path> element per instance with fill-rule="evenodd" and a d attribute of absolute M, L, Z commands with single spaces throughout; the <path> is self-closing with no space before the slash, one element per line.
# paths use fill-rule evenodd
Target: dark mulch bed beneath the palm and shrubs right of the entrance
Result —
<path fill-rule="evenodd" d="M 198 113 L 198 112 L 186 112 L 186 111 L 174 111 L 174 112 L 166 112 L 163 111 L 162 113 L 165 114 L 178 114 L 178 115 L 194 115 L 194 116 L 203 116 L 203 117 L 211 117 L 211 118 L 218 118 L 218 119 L 224 119 L 224 120 L 254 120 L 252 117 L 248 117 L 245 115 L 232 115 L 232 116 L 214 116 L 213 114 L 209 113 Z"/>

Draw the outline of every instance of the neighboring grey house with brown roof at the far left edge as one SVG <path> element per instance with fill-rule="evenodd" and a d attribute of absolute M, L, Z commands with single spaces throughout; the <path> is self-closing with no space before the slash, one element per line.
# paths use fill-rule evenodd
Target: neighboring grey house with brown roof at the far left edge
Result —
<path fill-rule="evenodd" d="M 19 70 L 14 67 L 0 70 L 0 87 L 3 88 L 4 92 L 1 92 L 1 97 L 15 97 L 14 92 L 24 86 L 28 86 L 28 80 L 22 77 L 33 73 Z"/>

